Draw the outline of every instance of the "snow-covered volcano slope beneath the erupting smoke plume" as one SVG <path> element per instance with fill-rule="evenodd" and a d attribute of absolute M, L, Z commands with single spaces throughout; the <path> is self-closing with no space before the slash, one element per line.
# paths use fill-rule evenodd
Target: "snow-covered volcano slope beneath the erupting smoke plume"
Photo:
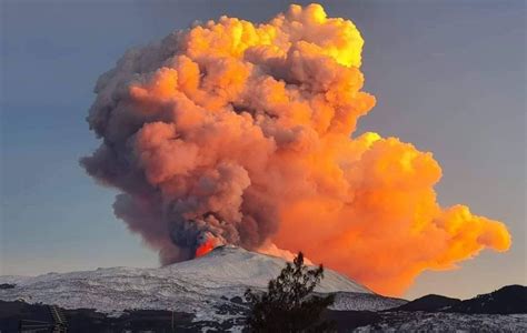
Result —
<path fill-rule="evenodd" d="M 198 319 L 218 320 L 218 315 L 229 315 L 226 304 L 229 309 L 243 307 L 237 296 L 242 296 L 247 287 L 266 287 L 284 265 L 280 258 L 222 246 L 199 259 L 160 269 L 111 268 L 34 278 L 0 276 L 0 283 L 17 284 L 13 289 L 0 290 L 0 300 L 23 299 L 30 303 L 89 307 L 107 313 L 132 309 L 175 310 L 195 313 Z M 355 299 L 360 303 L 358 309 L 365 307 L 362 299 L 354 295 L 369 294 L 379 302 L 384 300 L 331 270 L 325 271 L 317 291 L 345 292 L 348 300 L 341 296 L 339 303 L 346 304 L 346 309 L 354 307 Z M 218 311 L 221 307 L 223 311 Z"/>

